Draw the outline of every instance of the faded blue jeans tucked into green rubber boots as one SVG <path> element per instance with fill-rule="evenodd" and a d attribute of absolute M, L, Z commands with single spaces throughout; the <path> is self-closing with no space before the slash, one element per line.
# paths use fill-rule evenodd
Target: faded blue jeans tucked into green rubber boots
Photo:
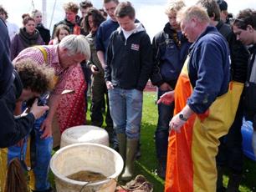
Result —
<path fill-rule="evenodd" d="M 109 90 L 109 100 L 115 133 L 126 134 L 129 139 L 139 139 L 143 92 L 115 87 Z"/>

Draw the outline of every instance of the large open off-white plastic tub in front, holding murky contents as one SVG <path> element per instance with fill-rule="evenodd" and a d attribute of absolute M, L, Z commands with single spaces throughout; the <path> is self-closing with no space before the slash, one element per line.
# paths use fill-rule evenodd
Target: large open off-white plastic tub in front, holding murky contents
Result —
<path fill-rule="evenodd" d="M 115 179 L 123 166 L 123 159 L 114 149 L 89 143 L 70 144 L 59 149 L 50 161 L 57 192 L 114 192 Z M 67 178 L 83 170 L 104 174 L 107 179 L 88 183 Z"/>

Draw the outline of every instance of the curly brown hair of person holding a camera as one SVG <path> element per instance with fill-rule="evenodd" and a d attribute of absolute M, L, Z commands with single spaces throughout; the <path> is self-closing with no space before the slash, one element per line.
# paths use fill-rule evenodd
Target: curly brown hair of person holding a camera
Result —
<path fill-rule="evenodd" d="M 52 90 L 57 83 L 54 68 L 49 68 L 46 64 L 38 65 L 29 58 L 19 60 L 14 68 L 21 78 L 23 88 L 30 89 L 32 92 L 45 93 Z"/>

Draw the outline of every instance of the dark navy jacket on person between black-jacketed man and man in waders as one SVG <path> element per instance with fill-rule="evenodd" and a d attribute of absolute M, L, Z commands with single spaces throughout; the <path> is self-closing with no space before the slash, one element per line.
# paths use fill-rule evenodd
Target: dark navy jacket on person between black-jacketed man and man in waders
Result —
<path fill-rule="evenodd" d="M 188 43 L 181 33 L 172 29 L 170 23 L 166 23 L 165 28 L 157 33 L 152 41 L 153 51 L 153 70 L 151 74 L 151 83 L 161 86 L 162 83 L 168 83 L 175 88 L 177 78 L 181 73 L 183 63 L 187 58 Z"/>

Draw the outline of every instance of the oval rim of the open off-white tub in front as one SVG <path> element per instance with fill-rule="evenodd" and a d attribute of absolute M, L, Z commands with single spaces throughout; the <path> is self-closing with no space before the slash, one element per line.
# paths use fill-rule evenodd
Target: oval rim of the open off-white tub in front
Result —
<path fill-rule="evenodd" d="M 112 152 L 113 154 L 115 154 L 115 156 L 120 160 L 121 162 L 121 168 L 123 169 L 124 167 L 124 161 L 121 158 L 120 154 L 118 152 L 115 151 L 115 149 L 111 149 L 108 146 L 105 146 L 104 144 L 94 144 L 94 143 L 79 143 L 79 144 L 69 144 L 59 150 L 57 150 L 54 155 L 52 156 L 52 158 L 50 159 L 50 169 L 52 170 L 54 176 L 56 176 L 58 179 L 63 180 L 64 182 L 69 182 L 72 184 L 77 184 L 80 186 L 84 186 L 85 184 L 87 186 L 93 186 L 93 185 L 98 185 L 98 184 L 105 184 L 107 182 L 109 182 L 111 179 L 117 179 L 118 176 L 120 175 L 120 173 L 122 172 L 122 169 L 120 169 L 120 171 L 115 172 L 115 174 L 110 175 L 109 177 L 107 177 L 106 179 L 102 179 L 100 181 L 95 181 L 95 182 L 85 182 L 85 181 L 78 181 L 78 180 L 73 180 L 73 179 L 69 179 L 66 176 L 64 176 L 63 174 L 59 174 L 59 171 L 57 169 L 54 168 L 54 160 L 58 157 L 58 155 L 64 151 L 67 150 L 69 148 L 76 148 L 77 146 L 81 146 L 81 145 L 94 145 L 96 147 L 100 147 L 100 148 L 105 148 L 108 149 L 110 152 Z M 116 182 L 116 181 L 115 181 Z"/>

